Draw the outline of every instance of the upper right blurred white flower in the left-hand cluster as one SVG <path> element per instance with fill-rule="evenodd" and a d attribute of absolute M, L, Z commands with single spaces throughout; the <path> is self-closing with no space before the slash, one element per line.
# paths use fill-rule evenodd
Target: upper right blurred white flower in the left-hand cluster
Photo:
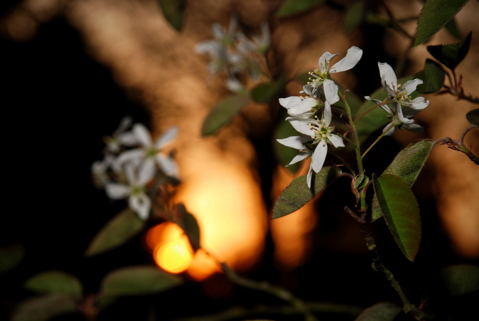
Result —
<path fill-rule="evenodd" d="M 138 142 L 142 145 L 142 149 L 130 149 L 121 153 L 115 161 L 115 167 L 121 167 L 126 162 L 132 160 L 141 160 L 144 165 L 152 169 L 153 175 L 156 172 L 158 163 L 160 169 L 165 175 L 178 177 L 178 169 L 174 160 L 167 155 L 161 153 L 161 149 L 170 143 L 178 134 L 178 127 L 171 126 L 153 143 L 148 129 L 143 124 L 135 124 L 133 126 L 133 134 Z"/>

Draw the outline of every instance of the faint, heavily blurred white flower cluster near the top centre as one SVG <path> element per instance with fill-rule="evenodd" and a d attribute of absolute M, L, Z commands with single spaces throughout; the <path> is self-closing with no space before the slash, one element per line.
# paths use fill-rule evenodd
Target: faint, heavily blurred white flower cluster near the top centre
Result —
<path fill-rule="evenodd" d="M 228 30 L 218 23 L 212 26 L 214 39 L 205 40 L 196 45 L 196 52 L 208 54 L 209 72 L 215 76 L 223 73 L 228 77 L 226 86 L 232 92 L 243 89 L 238 74 L 248 70 L 253 80 L 258 80 L 261 72 L 260 56 L 269 50 L 271 39 L 267 23 L 261 24 L 261 34 L 253 35 L 251 40 L 238 31 L 238 20 L 233 17 Z"/>

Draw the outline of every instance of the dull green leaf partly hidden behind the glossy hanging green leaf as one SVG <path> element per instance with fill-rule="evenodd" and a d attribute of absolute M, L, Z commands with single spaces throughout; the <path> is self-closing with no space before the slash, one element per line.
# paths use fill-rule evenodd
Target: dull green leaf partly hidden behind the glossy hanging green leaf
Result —
<path fill-rule="evenodd" d="M 431 139 L 420 139 L 412 142 L 405 149 L 401 150 L 394 160 L 389 164 L 384 174 L 393 174 L 398 176 L 409 187 L 416 181 L 422 170 L 429 154 L 433 150 L 434 142 Z M 371 206 L 371 222 L 383 216 L 381 208 L 377 203 L 377 197 L 374 195 Z"/>

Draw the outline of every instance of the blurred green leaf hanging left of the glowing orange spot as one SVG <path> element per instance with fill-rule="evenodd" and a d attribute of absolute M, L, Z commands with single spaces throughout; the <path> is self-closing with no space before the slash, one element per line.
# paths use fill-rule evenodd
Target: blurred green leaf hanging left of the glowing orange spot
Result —
<path fill-rule="evenodd" d="M 145 224 L 135 212 L 125 208 L 110 219 L 95 235 L 85 256 L 93 256 L 117 248 L 137 235 L 145 227 Z"/>

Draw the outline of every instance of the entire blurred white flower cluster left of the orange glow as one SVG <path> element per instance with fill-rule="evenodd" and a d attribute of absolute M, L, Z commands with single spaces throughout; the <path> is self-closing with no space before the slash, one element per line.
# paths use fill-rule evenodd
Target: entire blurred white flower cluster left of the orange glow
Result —
<path fill-rule="evenodd" d="M 95 185 L 104 188 L 109 198 L 128 198 L 128 206 L 139 218 L 147 219 L 151 209 L 147 184 L 157 176 L 158 168 L 165 176 L 178 178 L 175 161 L 162 153 L 178 134 L 178 127 L 170 127 L 153 143 L 142 124 L 137 123 L 126 131 L 131 124 L 131 117 L 123 118 L 114 134 L 103 139 L 104 158 L 93 162 L 91 173 Z M 128 147 L 136 148 L 126 149 Z"/>

